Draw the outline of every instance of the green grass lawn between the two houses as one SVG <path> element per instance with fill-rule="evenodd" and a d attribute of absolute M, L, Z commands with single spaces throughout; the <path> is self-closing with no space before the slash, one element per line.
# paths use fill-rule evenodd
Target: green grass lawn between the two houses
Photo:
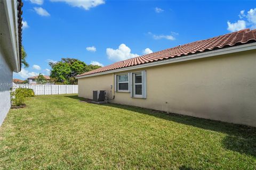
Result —
<path fill-rule="evenodd" d="M 36 96 L 0 128 L 0 169 L 256 169 L 256 129 Z"/>

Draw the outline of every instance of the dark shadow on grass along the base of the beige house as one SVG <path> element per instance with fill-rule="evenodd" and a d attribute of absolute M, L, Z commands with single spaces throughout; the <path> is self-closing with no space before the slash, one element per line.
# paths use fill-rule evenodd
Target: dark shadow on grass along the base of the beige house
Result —
<path fill-rule="evenodd" d="M 78 96 L 66 97 L 76 100 L 90 101 L 88 99 L 84 99 Z M 140 108 L 135 106 L 121 104 L 105 104 L 105 106 L 126 109 L 128 111 L 147 114 L 150 116 L 155 116 L 157 118 L 163 118 L 164 120 L 191 125 L 205 130 L 226 133 L 228 135 L 222 141 L 223 147 L 229 150 L 239 152 L 241 154 L 256 157 L 256 128 L 244 125 L 225 123 L 220 121 L 206 120 L 204 118 L 196 118 L 179 114 L 166 114 L 161 111 L 154 111 L 151 109 Z M 181 167 L 181 169 L 189 168 Z"/>

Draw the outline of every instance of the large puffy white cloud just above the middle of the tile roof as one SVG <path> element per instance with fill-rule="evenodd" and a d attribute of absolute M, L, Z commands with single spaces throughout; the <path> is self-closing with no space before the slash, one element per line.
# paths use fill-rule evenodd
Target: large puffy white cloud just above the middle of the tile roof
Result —
<path fill-rule="evenodd" d="M 119 45 L 118 49 L 107 48 L 106 53 L 109 60 L 112 61 L 122 61 L 139 56 L 138 54 L 132 54 L 131 49 L 125 44 Z"/>

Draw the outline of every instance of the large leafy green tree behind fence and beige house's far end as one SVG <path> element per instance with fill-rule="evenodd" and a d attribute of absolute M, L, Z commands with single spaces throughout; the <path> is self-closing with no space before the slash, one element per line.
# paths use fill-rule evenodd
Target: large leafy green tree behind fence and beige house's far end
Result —
<path fill-rule="evenodd" d="M 87 65 L 76 58 L 61 58 L 57 63 L 49 63 L 52 67 L 50 77 L 57 83 L 77 84 L 76 75 L 98 69 L 98 65 Z"/>

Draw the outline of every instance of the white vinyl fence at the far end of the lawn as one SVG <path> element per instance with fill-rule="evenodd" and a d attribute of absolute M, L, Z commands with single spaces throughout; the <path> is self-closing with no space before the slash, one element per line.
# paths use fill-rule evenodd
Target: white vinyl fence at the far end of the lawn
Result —
<path fill-rule="evenodd" d="M 13 90 L 17 88 L 33 89 L 35 95 L 59 95 L 77 94 L 78 85 L 54 85 L 54 84 L 13 84 Z"/>

